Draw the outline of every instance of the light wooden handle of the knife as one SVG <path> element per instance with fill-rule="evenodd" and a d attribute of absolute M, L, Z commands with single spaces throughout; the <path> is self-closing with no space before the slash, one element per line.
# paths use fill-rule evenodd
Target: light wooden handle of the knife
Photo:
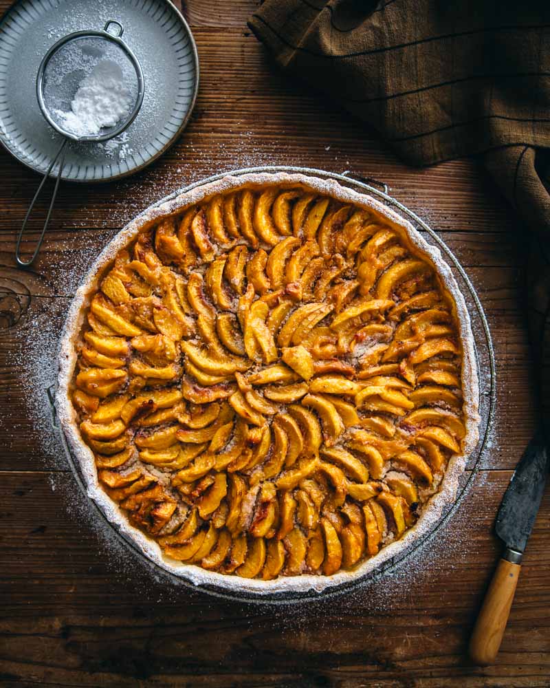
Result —
<path fill-rule="evenodd" d="M 470 657 L 480 665 L 494 663 L 518 585 L 521 566 L 507 559 L 521 561 L 521 555 L 507 550 L 504 556 L 498 562 L 470 638 Z"/>

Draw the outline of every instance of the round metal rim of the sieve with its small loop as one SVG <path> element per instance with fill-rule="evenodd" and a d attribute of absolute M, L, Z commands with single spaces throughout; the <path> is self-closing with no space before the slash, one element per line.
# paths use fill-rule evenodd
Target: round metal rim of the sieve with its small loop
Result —
<path fill-rule="evenodd" d="M 112 23 L 118 24 L 118 26 L 120 26 L 121 28 L 120 34 L 118 36 L 110 34 L 107 31 L 107 27 Z M 120 38 L 123 32 L 124 28 L 122 28 L 122 24 L 119 21 L 116 21 L 115 19 L 109 19 L 109 21 L 105 23 L 103 30 L 75 31 L 72 34 L 67 34 L 67 36 L 63 36 L 63 38 L 59 39 L 56 43 L 54 43 L 54 45 L 52 45 L 52 47 L 50 47 L 50 50 L 48 50 L 45 56 L 42 58 L 38 74 L 36 74 L 36 98 L 39 101 L 39 107 L 41 109 L 41 112 L 45 120 L 50 125 L 50 127 L 55 129 L 58 133 L 61 133 L 61 135 L 65 136 L 65 138 L 69 138 L 73 141 L 78 142 L 107 141 L 111 138 L 114 138 L 115 136 L 118 136 L 120 133 L 128 129 L 133 120 L 135 120 L 135 118 L 137 117 L 137 113 L 140 111 L 143 103 L 143 97 L 145 92 L 145 80 L 140 62 L 138 61 L 135 54 L 133 54 L 131 48 L 128 45 L 126 45 L 126 43 L 124 43 L 124 41 L 122 41 L 122 39 Z M 107 41 L 115 43 L 124 51 L 126 56 L 128 56 L 129 60 L 131 61 L 135 69 L 135 74 L 137 76 L 137 98 L 135 99 L 134 107 L 131 111 L 130 116 L 126 118 L 126 120 L 124 120 L 122 124 L 118 125 L 118 127 L 115 127 L 114 129 L 109 129 L 109 133 L 102 134 L 101 136 L 78 136 L 75 133 L 66 131 L 65 129 L 63 129 L 63 127 L 60 127 L 58 123 L 50 116 L 50 112 L 45 105 L 43 96 L 44 72 L 48 63 L 52 59 L 52 56 L 54 56 L 54 54 L 61 47 L 63 47 L 63 45 L 65 45 L 65 43 L 68 43 L 69 41 L 73 41 L 74 39 L 78 38 L 92 38 L 94 36 L 101 39 L 107 39 Z"/>

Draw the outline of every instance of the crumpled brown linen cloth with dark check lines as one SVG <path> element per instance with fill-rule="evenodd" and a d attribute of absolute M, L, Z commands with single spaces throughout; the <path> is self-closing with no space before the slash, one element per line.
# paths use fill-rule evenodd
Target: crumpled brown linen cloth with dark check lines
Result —
<path fill-rule="evenodd" d="M 406 162 L 483 153 L 529 252 L 548 427 L 550 0 L 266 0 L 249 25 L 283 69 L 373 125 Z"/>

